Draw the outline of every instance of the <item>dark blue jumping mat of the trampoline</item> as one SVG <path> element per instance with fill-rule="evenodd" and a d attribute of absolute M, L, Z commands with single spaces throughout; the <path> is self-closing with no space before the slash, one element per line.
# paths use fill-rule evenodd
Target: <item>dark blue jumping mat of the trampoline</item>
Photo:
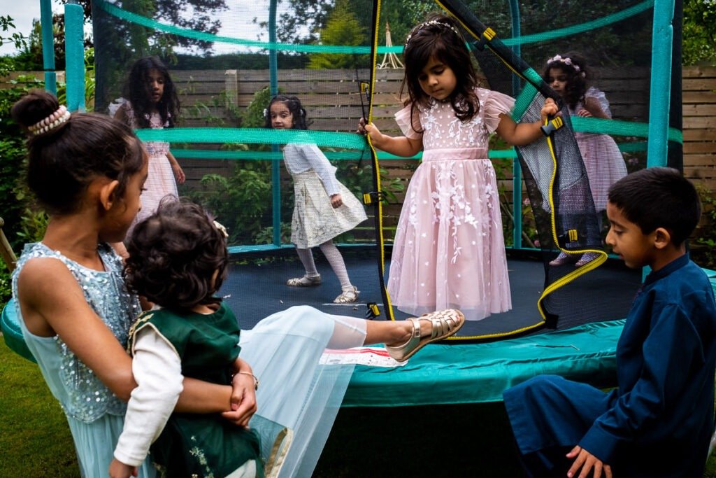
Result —
<path fill-rule="evenodd" d="M 347 268 L 359 279 L 374 277 L 377 274 L 376 264 L 372 258 L 361 257 L 359 252 L 345 252 Z M 324 260 L 316 259 L 316 266 L 324 270 L 324 274 L 332 274 Z M 298 260 L 284 262 L 233 264 L 226 282 L 224 282 L 221 295 L 236 311 L 241 328 L 248 329 L 256 325 L 258 320 L 267 315 L 279 312 L 292 305 L 312 305 L 324 312 L 337 315 L 350 315 L 352 317 L 365 317 L 367 312 L 366 300 L 361 297 L 380 297 L 379 282 L 367 280 L 354 281 L 361 297 L 353 304 L 334 304 L 332 302 L 340 292 L 337 281 L 324 277 L 324 283 L 319 287 L 288 288 L 281 294 L 267 294 L 266 291 L 275 290 L 276 282 L 285 282 L 285 279 L 294 277 L 300 270 Z M 390 259 L 386 269 L 390 267 Z M 480 336 L 481 340 L 472 340 L 473 343 L 495 340 L 500 330 L 519 330 L 531 325 L 536 314 L 536 301 L 544 289 L 544 266 L 537 252 L 511 251 L 508 254 L 508 272 L 513 297 L 512 310 L 500 314 L 493 314 L 484 320 L 468 321 L 460 330 L 465 337 Z M 283 281 L 281 281 L 283 279 Z M 589 297 L 602 297 L 602 307 L 596 315 L 591 317 L 593 322 L 602 322 L 626 317 L 632 304 L 634 292 L 642 282 L 642 272 L 627 269 L 618 259 L 610 259 L 604 266 L 587 274 L 581 281 L 574 282 L 565 287 L 565 296 L 579 296 L 589 294 Z M 382 302 L 377 306 L 384 307 Z M 562 301 L 554 307 L 557 315 L 564 310 L 569 312 L 574 302 Z M 395 319 L 403 320 L 410 315 L 400 310 L 395 311 Z M 374 320 L 382 320 L 377 317 Z M 573 319 L 574 320 L 574 319 Z M 582 320 L 577 320 L 582 322 Z M 560 322 L 561 329 L 574 327 L 569 317 Z M 535 335 L 551 332 L 548 328 L 526 330 L 523 335 Z M 494 334 L 494 335 L 493 335 Z M 490 336 L 493 335 L 493 336 Z"/>

